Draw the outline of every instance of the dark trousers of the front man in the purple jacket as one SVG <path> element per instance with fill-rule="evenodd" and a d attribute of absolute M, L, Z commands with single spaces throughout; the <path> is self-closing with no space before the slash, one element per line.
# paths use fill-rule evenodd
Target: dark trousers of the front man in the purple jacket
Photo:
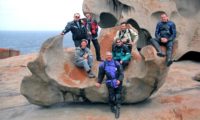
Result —
<path fill-rule="evenodd" d="M 122 91 L 122 83 L 117 88 L 113 88 L 107 85 L 108 93 L 109 93 L 109 104 L 111 106 L 120 105 L 121 104 L 121 91 Z"/>

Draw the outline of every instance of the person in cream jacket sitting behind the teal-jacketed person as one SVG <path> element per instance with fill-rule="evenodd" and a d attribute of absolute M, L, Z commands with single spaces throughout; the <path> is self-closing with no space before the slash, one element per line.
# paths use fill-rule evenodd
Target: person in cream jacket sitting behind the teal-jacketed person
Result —
<path fill-rule="evenodd" d="M 116 39 L 120 38 L 124 44 L 128 46 L 130 51 L 132 47 L 134 49 L 137 48 L 138 41 L 138 33 L 128 28 L 128 24 L 126 22 L 122 22 L 120 24 L 120 30 L 117 31 L 116 36 L 114 37 L 114 43 Z"/>

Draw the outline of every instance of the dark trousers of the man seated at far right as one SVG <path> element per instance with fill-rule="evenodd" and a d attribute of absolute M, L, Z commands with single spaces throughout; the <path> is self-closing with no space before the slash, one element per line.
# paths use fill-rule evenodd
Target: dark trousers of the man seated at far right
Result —
<path fill-rule="evenodd" d="M 173 50 L 173 40 L 172 41 L 168 41 L 167 43 L 162 43 L 160 41 L 160 39 L 157 38 L 152 38 L 150 39 L 151 44 L 155 47 L 155 49 L 157 50 L 157 52 L 162 52 L 160 45 L 163 45 L 166 47 L 166 55 L 167 55 L 167 60 L 172 60 L 172 50 Z"/>

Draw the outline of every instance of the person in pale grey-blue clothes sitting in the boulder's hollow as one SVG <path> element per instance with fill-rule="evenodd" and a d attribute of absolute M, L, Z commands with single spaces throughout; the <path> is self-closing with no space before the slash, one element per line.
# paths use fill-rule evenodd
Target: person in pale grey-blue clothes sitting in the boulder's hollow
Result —
<path fill-rule="evenodd" d="M 92 72 L 93 56 L 89 48 L 87 48 L 87 40 L 83 39 L 81 41 L 81 46 L 77 47 L 75 50 L 75 65 L 78 67 L 83 67 L 88 73 L 89 78 L 95 78 Z"/>

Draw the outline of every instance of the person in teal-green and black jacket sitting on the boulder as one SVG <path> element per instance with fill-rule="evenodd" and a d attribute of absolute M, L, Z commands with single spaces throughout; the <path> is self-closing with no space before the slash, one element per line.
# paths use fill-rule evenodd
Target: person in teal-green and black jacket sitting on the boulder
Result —
<path fill-rule="evenodd" d="M 116 39 L 115 45 L 112 48 L 113 59 L 118 61 L 123 69 L 129 64 L 131 60 L 130 50 L 123 42 L 118 38 Z"/>

